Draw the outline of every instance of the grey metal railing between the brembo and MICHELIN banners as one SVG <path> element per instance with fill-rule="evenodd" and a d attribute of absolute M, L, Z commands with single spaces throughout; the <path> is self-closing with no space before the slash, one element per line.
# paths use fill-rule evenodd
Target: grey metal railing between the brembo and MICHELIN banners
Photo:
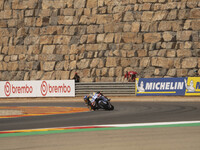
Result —
<path fill-rule="evenodd" d="M 79 82 L 75 85 L 76 96 L 101 91 L 109 96 L 134 96 L 135 82 Z"/>

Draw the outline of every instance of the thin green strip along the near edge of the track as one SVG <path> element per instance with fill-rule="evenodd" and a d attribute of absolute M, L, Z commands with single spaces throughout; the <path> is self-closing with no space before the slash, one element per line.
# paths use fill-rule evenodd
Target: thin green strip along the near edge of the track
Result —
<path fill-rule="evenodd" d="M 149 125 L 149 126 L 130 126 L 130 127 L 105 127 L 105 128 L 87 128 L 87 129 L 64 129 L 64 130 L 33 131 L 33 132 L 18 132 L 18 133 L 0 134 L 0 137 L 44 135 L 44 134 L 88 132 L 88 131 L 105 131 L 105 130 L 122 130 L 122 129 L 163 128 L 163 127 L 195 127 L 195 126 L 200 126 L 200 123 Z"/>

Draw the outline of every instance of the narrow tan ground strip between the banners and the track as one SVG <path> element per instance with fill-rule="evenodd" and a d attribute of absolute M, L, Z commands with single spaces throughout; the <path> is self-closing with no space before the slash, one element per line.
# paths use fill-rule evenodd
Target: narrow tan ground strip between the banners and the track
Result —
<path fill-rule="evenodd" d="M 111 101 L 133 102 L 200 102 L 199 96 L 108 96 Z M 82 102 L 83 97 L 0 98 L 0 103 Z"/>

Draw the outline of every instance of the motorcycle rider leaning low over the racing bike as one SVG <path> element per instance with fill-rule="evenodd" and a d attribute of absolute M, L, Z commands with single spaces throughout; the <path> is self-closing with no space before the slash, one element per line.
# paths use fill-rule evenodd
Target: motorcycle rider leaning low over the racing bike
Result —
<path fill-rule="evenodd" d="M 85 103 L 91 106 L 91 109 L 94 109 L 94 110 L 98 109 L 98 103 L 102 102 L 106 104 L 106 102 L 109 100 L 110 99 L 106 98 L 100 91 L 84 97 Z"/>

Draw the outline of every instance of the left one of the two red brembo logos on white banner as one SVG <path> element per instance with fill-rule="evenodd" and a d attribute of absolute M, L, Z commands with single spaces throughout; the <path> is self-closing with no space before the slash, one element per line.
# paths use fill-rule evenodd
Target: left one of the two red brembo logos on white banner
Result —
<path fill-rule="evenodd" d="M 33 87 L 28 86 L 27 84 L 24 86 L 14 86 L 10 84 L 10 82 L 6 82 L 4 85 L 4 92 L 6 96 L 10 96 L 10 94 L 28 94 L 33 93 Z"/>

